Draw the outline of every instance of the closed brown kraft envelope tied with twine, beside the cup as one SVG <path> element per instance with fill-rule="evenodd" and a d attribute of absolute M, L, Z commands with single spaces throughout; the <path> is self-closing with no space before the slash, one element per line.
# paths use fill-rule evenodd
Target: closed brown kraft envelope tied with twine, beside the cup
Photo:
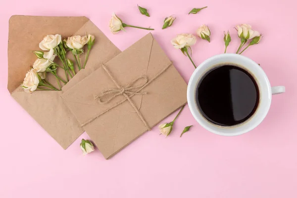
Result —
<path fill-rule="evenodd" d="M 111 77 L 119 87 L 126 87 L 125 93 L 131 97 L 143 120 Z M 135 87 L 143 89 L 134 95 L 138 89 Z M 100 98 L 100 103 L 97 97 L 107 89 L 115 91 Z M 187 84 L 181 75 L 148 34 L 61 97 L 103 156 L 109 158 L 184 105 L 186 90 Z M 112 96 L 115 97 L 111 99 Z M 111 100 L 102 103 L 108 99 Z"/>

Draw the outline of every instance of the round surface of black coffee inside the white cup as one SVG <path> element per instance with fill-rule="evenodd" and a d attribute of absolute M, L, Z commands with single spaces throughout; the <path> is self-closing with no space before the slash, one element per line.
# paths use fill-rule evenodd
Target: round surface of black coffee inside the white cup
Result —
<path fill-rule="evenodd" d="M 195 95 L 202 115 L 222 126 L 246 121 L 259 103 L 259 88 L 254 78 L 234 65 L 218 66 L 206 73 Z"/>

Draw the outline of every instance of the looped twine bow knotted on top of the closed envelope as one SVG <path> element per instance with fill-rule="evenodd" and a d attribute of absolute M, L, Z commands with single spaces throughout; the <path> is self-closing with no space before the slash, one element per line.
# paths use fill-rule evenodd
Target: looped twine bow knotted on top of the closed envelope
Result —
<path fill-rule="evenodd" d="M 137 81 L 140 81 L 144 79 L 144 81 L 142 83 L 140 83 L 137 86 L 133 86 Z M 140 76 L 136 79 L 134 79 L 133 81 L 131 81 L 126 87 L 120 87 L 118 86 L 118 88 L 110 88 L 110 89 L 106 89 L 104 91 L 102 91 L 99 95 L 94 95 L 94 99 L 98 100 L 99 103 L 101 104 L 106 104 L 108 103 L 110 100 L 116 98 L 117 96 L 120 95 L 146 95 L 147 92 L 140 92 L 139 91 L 134 91 L 135 89 L 139 89 L 141 87 L 143 87 L 144 85 L 146 85 L 148 83 L 148 77 L 147 76 Z M 106 101 L 102 101 L 103 98 L 105 98 L 105 96 L 111 95 L 111 97 L 109 97 Z"/>

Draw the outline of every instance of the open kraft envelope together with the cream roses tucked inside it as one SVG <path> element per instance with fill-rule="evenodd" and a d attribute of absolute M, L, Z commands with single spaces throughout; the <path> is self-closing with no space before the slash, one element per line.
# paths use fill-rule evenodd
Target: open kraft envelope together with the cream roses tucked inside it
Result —
<path fill-rule="evenodd" d="M 60 95 L 118 53 L 86 17 L 14 15 L 9 20 L 8 90 L 67 148 L 83 129 Z"/>

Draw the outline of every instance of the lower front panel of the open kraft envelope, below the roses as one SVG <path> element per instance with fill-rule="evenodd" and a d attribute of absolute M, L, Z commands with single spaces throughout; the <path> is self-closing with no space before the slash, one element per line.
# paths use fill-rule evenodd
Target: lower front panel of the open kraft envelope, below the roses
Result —
<path fill-rule="evenodd" d="M 13 92 L 11 96 L 66 149 L 82 134 L 83 129 L 60 98 L 61 94 L 57 91 L 28 94 L 21 90 Z"/>

